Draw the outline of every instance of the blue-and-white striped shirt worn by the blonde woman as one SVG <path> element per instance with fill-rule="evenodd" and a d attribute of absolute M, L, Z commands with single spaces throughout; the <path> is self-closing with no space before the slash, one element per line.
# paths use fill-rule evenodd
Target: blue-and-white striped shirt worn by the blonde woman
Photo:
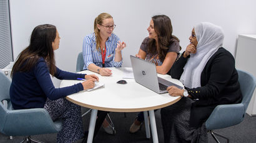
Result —
<path fill-rule="evenodd" d="M 106 41 L 106 58 L 105 67 L 122 67 L 122 60 L 120 62 L 115 62 L 116 47 L 119 37 L 115 34 L 111 36 Z M 94 63 L 98 67 L 102 67 L 102 56 L 101 51 L 96 48 L 96 37 L 95 33 L 86 35 L 84 37 L 84 42 L 82 44 L 82 53 L 84 56 L 84 70 L 87 70 L 91 63 Z"/>

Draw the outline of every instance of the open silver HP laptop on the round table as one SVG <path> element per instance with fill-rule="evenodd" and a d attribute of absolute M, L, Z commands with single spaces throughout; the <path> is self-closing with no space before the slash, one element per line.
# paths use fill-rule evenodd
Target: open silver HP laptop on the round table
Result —
<path fill-rule="evenodd" d="M 132 63 L 132 71 L 134 73 L 134 80 L 142 86 L 149 88 L 156 93 L 167 93 L 168 86 L 176 86 L 183 89 L 182 86 L 176 85 L 170 81 L 157 76 L 157 69 L 154 63 L 148 62 L 141 58 L 130 55 L 130 62 Z"/>

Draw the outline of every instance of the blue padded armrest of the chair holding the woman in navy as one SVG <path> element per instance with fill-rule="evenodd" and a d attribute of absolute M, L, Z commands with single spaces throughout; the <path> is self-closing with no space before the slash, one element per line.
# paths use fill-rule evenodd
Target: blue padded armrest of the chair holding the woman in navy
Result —
<path fill-rule="evenodd" d="M 4 134 L 9 136 L 50 134 L 60 131 L 61 124 L 61 121 L 53 122 L 44 108 L 9 110 Z"/>

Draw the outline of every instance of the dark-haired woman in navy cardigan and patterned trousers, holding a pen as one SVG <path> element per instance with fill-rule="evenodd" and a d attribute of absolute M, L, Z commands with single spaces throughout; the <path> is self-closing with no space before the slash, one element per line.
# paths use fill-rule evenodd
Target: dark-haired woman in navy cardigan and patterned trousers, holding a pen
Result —
<path fill-rule="evenodd" d="M 12 68 L 10 97 L 14 109 L 45 108 L 53 121 L 61 118 L 63 124 L 57 134 L 57 142 L 74 142 L 84 137 L 81 108 L 65 97 L 93 88 L 94 81 L 99 78 L 96 75 L 69 73 L 57 68 L 54 50 L 59 48 L 60 39 L 54 25 L 38 25 L 34 28 L 29 46 L 19 54 Z M 60 80 L 85 78 L 86 81 L 65 88 L 55 88 L 50 74 Z M 102 119 L 98 124 L 101 125 L 107 113 L 99 114 Z"/>

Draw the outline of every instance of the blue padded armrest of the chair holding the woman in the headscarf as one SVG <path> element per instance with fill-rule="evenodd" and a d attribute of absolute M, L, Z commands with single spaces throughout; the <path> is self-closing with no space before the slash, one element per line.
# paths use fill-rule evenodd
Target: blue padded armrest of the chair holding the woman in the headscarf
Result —
<path fill-rule="evenodd" d="M 244 120 L 244 114 L 245 105 L 242 103 L 218 105 L 205 122 L 205 126 L 209 130 L 234 126 Z"/>

